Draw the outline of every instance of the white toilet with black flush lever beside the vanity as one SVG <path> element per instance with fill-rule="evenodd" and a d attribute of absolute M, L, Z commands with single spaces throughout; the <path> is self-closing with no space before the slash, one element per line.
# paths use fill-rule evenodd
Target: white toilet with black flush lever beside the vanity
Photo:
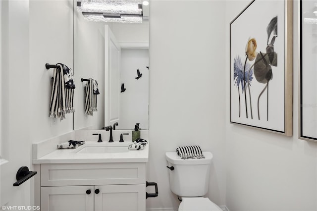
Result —
<path fill-rule="evenodd" d="M 222 211 L 209 198 L 208 192 L 211 152 L 205 158 L 181 159 L 176 153 L 166 153 L 171 191 L 182 197 L 178 211 Z"/>

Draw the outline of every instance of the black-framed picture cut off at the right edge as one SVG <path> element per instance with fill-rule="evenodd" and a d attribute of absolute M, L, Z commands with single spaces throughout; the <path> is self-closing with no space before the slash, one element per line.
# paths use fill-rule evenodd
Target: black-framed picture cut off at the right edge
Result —
<path fill-rule="evenodd" d="M 299 138 L 317 142 L 317 0 L 299 3 Z"/>

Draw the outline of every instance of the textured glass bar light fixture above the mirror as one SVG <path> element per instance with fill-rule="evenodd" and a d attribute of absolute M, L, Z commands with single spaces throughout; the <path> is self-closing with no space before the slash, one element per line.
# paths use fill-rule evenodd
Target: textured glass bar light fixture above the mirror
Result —
<path fill-rule="evenodd" d="M 88 21 L 142 23 L 143 3 L 142 0 L 77 0 L 77 9 Z"/>

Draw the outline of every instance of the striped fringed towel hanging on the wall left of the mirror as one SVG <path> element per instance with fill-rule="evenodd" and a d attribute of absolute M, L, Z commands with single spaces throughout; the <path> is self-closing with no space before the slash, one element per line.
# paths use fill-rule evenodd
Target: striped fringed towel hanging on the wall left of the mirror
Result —
<path fill-rule="evenodd" d="M 74 110 L 74 87 L 67 88 L 65 86 L 63 64 L 56 64 L 53 72 L 53 88 L 50 103 L 49 117 L 65 118 L 65 113 L 75 112 Z M 67 67 L 68 68 L 68 67 Z"/>

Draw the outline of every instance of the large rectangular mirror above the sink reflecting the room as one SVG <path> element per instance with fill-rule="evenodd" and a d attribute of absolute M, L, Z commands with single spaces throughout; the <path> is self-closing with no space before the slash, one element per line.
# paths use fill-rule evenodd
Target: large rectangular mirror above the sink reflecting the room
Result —
<path fill-rule="evenodd" d="M 131 130 L 136 123 L 148 129 L 148 48 L 149 21 L 89 22 L 74 3 L 74 130 L 102 130 L 115 122 L 120 130 Z M 85 114 L 87 81 L 81 78 L 98 83 L 93 115 Z"/>

